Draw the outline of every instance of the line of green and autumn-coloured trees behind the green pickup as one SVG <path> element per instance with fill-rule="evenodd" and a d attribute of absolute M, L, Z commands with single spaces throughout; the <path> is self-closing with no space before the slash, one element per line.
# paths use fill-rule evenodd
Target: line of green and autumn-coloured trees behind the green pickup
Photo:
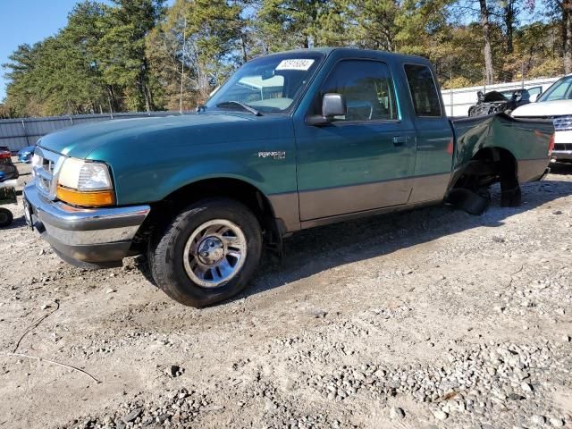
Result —
<path fill-rule="evenodd" d="M 572 0 L 488 0 L 495 81 L 572 67 Z M 85 0 L 4 64 L 2 116 L 189 110 L 248 59 L 356 46 L 428 57 L 445 88 L 484 81 L 476 0 Z M 526 25 L 520 22 L 526 21 Z"/>

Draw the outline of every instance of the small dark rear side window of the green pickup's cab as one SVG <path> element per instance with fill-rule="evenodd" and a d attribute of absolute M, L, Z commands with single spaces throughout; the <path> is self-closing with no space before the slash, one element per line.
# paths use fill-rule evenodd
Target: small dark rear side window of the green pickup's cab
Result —
<path fill-rule="evenodd" d="M 425 65 L 405 64 L 409 91 L 417 116 L 441 116 L 441 102 L 433 73 Z"/>

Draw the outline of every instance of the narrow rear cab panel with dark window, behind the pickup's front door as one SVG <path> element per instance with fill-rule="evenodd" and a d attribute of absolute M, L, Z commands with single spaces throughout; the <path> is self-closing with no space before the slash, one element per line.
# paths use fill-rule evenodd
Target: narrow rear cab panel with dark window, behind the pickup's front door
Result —
<path fill-rule="evenodd" d="M 453 130 L 442 108 L 433 71 L 426 64 L 403 65 L 417 132 L 415 181 L 410 204 L 440 200 L 450 181 Z"/>

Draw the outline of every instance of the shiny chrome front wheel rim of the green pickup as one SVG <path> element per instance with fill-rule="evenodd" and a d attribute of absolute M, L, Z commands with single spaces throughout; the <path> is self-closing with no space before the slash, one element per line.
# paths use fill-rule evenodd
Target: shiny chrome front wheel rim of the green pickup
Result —
<path fill-rule="evenodd" d="M 240 227 L 226 219 L 214 219 L 190 234 L 183 265 L 192 282 L 216 288 L 240 272 L 246 257 L 247 239 Z"/>

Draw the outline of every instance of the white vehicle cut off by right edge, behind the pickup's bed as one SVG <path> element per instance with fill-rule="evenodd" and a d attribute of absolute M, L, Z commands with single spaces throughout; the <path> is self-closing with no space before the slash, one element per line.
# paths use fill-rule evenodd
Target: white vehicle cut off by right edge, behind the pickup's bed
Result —
<path fill-rule="evenodd" d="M 572 161 L 572 74 L 554 82 L 536 103 L 518 107 L 512 116 L 553 120 L 556 132 L 552 157 Z"/>

